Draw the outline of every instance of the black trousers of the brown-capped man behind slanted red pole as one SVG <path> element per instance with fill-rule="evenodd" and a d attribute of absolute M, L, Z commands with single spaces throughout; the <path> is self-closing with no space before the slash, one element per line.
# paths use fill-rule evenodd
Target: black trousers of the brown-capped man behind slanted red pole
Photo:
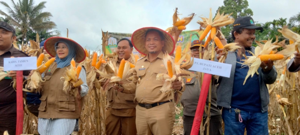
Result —
<path fill-rule="evenodd" d="M 206 121 L 206 118 L 203 118 L 203 122 Z M 184 129 L 184 135 L 190 135 L 190 132 L 192 130 L 194 117 L 193 116 L 186 116 L 183 115 L 183 129 Z M 206 135 L 206 127 L 204 130 L 204 134 Z M 209 134 L 210 135 L 221 135 L 223 134 L 222 129 L 222 117 L 221 115 L 211 116 L 211 119 L 209 121 Z M 200 132 L 199 132 L 200 135 Z"/>

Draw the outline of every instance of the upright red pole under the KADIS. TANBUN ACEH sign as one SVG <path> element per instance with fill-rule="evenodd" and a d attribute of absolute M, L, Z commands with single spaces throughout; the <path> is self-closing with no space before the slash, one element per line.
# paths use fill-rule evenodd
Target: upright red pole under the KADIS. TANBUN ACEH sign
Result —
<path fill-rule="evenodd" d="M 17 124 L 16 124 L 16 135 L 23 134 L 23 71 L 17 71 L 16 78 L 17 85 Z"/>

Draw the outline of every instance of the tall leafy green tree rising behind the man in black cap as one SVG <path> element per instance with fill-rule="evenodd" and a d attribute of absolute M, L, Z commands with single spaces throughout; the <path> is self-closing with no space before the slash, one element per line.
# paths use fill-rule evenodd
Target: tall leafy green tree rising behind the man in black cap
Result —
<path fill-rule="evenodd" d="M 218 8 L 218 10 L 220 10 L 220 13 L 232 13 L 231 16 L 234 19 L 238 18 L 239 16 L 253 16 L 253 11 L 248 8 L 249 4 L 247 0 L 224 0 L 223 3 L 224 5 Z M 228 43 L 233 42 L 231 36 L 232 29 L 233 25 L 227 25 L 221 28 L 221 31 Z"/>

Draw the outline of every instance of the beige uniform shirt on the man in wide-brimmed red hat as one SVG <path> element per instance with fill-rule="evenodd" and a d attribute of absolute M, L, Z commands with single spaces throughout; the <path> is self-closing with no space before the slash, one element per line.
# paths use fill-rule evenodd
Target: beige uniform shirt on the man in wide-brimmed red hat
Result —
<path fill-rule="evenodd" d="M 163 55 L 161 52 L 153 61 L 149 61 L 149 55 L 137 61 L 133 71 L 133 81 L 124 85 L 125 93 L 135 93 L 134 101 L 141 104 L 154 104 L 157 102 L 165 102 L 173 100 L 173 96 L 161 93 L 159 90 L 163 86 L 163 81 L 156 80 L 158 73 L 167 73 L 167 69 L 163 63 Z M 174 60 L 174 58 L 173 58 Z M 138 79 L 140 78 L 140 83 Z M 182 90 L 185 85 L 182 82 Z"/>

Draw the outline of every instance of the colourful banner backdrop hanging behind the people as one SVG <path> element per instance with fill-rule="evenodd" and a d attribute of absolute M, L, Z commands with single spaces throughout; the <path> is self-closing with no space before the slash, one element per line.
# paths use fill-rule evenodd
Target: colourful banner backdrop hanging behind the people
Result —
<path fill-rule="evenodd" d="M 104 32 L 104 33 L 106 34 L 106 32 Z M 199 29 L 181 32 L 181 35 L 178 38 L 176 47 L 181 46 L 182 52 L 186 52 L 186 50 L 190 49 L 191 41 L 199 40 L 199 37 L 202 33 L 203 33 L 203 30 L 199 31 Z M 108 35 L 110 35 L 111 38 L 108 39 L 108 46 L 105 46 L 106 53 L 112 53 L 112 52 L 116 52 L 117 42 L 122 38 L 128 38 L 129 40 L 131 40 L 132 33 L 108 32 Z M 135 48 L 133 49 L 132 52 L 134 55 L 138 55 L 139 57 L 142 56 Z M 174 54 L 175 54 L 175 52 L 174 52 Z"/>

